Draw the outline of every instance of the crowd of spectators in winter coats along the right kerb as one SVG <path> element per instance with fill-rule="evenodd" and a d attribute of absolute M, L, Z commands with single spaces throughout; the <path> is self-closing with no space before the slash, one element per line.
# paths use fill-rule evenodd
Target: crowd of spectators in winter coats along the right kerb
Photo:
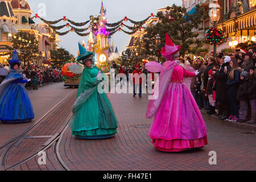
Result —
<path fill-rule="evenodd" d="M 191 64 L 199 71 L 191 91 L 200 109 L 226 121 L 256 123 L 256 51 L 218 53 Z M 217 113 L 216 113 L 217 110 Z"/>

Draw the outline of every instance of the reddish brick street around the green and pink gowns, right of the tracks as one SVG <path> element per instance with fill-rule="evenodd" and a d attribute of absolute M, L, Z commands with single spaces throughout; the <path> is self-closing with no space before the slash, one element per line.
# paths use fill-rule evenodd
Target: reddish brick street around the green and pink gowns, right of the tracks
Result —
<path fill-rule="evenodd" d="M 209 144 L 180 153 L 156 151 L 147 136 L 151 119 L 144 119 L 147 98 L 132 94 L 109 94 L 119 127 L 116 137 L 81 140 L 68 129 L 60 154 L 71 170 L 255 170 L 255 134 L 236 129 L 204 115 Z M 215 120 L 214 120 L 215 119 Z M 217 165 L 208 163 L 209 151 L 217 152 Z"/>

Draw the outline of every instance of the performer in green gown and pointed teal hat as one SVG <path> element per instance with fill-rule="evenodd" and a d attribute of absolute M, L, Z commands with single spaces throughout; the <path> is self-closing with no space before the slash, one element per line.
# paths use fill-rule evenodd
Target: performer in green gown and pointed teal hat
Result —
<path fill-rule="evenodd" d="M 93 53 L 87 52 L 80 43 L 79 51 L 77 61 L 82 61 L 85 68 L 82 71 L 77 100 L 72 108 L 73 116 L 69 122 L 72 134 L 81 139 L 114 137 L 117 133 L 117 119 L 108 96 L 104 92 L 98 92 L 100 81 L 97 78 L 103 72 L 92 65 Z"/>

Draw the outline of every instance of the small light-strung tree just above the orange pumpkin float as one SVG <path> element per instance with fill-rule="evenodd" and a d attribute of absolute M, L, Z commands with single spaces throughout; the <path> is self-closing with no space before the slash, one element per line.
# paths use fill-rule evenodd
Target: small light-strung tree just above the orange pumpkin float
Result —
<path fill-rule="evenodd" d="M 51 61 L 55 66 L 63 66 L 65 63 L 75 60 L 75 57 L 71 55 L 66 49 L 59 48 L 57 50 L 51 50 Z"/>

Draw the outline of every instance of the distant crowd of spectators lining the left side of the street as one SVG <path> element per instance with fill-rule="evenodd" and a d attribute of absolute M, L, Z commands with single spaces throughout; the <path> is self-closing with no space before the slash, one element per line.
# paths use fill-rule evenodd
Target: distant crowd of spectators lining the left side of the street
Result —
<path fill-rule="evenodd" d="M 5 68 L 7 72 L 10 72 L 9 64 L 0 64 L 0 68 Z M 39 86 L 48 84 L 49 82 L 62 82 L 61 69 L 56 67 L 46 67 L 44 65 L 36 65 L 33 62 L 31 64 L 20 64 L 18 72 L 24 76 L 24 79 L 31 79 L 27 82 L 25 87 L 27 89 L 37 90 Z M 0 83 L 6 76 L 1 76 Z"/>

